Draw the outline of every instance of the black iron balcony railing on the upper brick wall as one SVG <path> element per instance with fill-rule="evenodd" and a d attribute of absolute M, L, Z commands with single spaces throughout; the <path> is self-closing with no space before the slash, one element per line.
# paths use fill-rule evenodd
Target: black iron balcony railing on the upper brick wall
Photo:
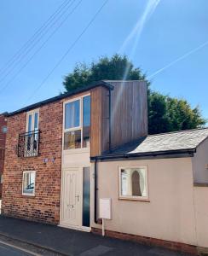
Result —
<path fill-rule="evenodd" d="M 39 155 L 40 131 L 29 131 L 19 135 L 17 155 L 30 157 Z"/>

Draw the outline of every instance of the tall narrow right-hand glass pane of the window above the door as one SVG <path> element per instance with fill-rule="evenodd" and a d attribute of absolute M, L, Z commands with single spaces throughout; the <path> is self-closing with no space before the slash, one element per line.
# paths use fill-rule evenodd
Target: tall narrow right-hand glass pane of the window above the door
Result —
<path fill-rule="evenodd" d="M 83 98 L 83 147 L 90 147 L 90 96 Z"/>

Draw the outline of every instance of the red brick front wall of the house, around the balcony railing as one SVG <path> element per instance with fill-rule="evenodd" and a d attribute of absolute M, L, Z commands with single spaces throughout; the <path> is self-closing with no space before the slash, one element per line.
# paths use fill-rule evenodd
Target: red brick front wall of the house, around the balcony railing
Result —
<path fill-rule="evenodd" d="M 87 94 L 85 92 L 83 94 Z M 77 97 L 81 96 L 71 96 Z M 69 99 L 69 98 L 68 98 Z M 8 133 L 3 174 L 2 212 L 15 218 L 58 224 L 61 199 L 61 148 L 63 102 L 52 102 L 39 108 L 40 155 L 17 157 L 20 133 L 26 130 L 26 113 L 8 118 Z M 44 164 L 43 159 L 48 163 Z M 52 162 L 55 158 L 55 162 Z M 35 196 L 22 195 L 22 172 L 36 171 Z"/>

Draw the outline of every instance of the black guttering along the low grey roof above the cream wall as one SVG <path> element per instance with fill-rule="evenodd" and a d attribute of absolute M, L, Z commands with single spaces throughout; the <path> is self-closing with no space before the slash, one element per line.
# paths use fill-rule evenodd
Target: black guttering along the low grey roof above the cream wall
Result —
<path fill-rule="evenodd" d="M 196 148 L 187 148 L 187 149 L 176 149 L 176 150 L 165 150 L 165 151 L 155 151 L 155 152 L 145 152 L 145 153 L 131 153 L 131 154 L 106 154 L 106 155 L 98 155 L 91 157 L 91 161 L 97 160 L 114 160 L 114 159 L 142 159 L 142 158 L 156 158 L 161 156 L 171 156 L 175 155 L 175 157 L 180 157 L 180 155 L 184 155 L 184 157 L 193 157 L 196 152 Z"/>

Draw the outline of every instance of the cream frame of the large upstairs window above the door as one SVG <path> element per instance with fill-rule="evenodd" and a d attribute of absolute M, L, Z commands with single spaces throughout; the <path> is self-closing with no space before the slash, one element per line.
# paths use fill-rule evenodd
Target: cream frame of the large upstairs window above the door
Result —
<path fill-rule="evenodd" d="M 72 98 L 66 102 L 63 102 L 63 134 L 62 134 L 62 137 L 63 137 L 63 143 L 62 143 L 62 148 L 63 148 L 63 151 L 68 151 L 68 152 L 73 152 L 73 151 L 88 151 L 89 150 L 89 147 L 88 148 L 83 148 L 83 99 L 84 97 L 86 96 L 90 96 L 90 93 L 88 94 L 84 94 L 83 96 L 78 96 L 76 98 Z M 79 100 L 79 126 L 77 127 L 72 127 L 72 128 L 68 128 L 68 129 L 65 129 L 65 108 L 66 108 L 66 104 L 67 103 L 70 103 L 70 102 L 76 102 Z M 90 124 L 91 125 L 91 124 Z M 65 135 L 65 132 L 67 131 L 81 131 L 81 148 L 71 148 L 71 149 L 64 149 L 64 135 Z"/>

